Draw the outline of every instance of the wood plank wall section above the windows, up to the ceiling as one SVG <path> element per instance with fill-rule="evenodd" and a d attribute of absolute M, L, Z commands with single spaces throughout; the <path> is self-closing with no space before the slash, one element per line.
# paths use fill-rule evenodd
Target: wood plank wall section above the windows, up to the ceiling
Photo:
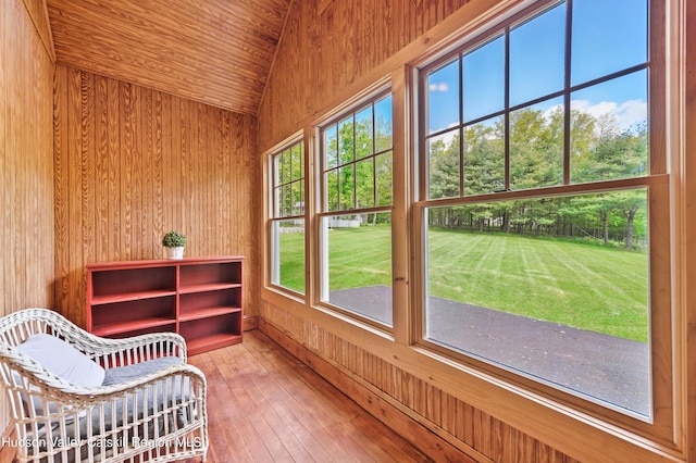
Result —
<path fill-rule="evenodd" d="M 261 150 L 470 1 L 293 2 L 259 108 Z"/>

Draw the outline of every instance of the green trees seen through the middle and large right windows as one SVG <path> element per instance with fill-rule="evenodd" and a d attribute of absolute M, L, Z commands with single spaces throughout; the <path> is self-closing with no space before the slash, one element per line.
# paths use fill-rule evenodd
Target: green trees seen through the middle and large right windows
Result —
<path fill-rule="evenodd" d="M 564 138 L 570 137 L 571 184 L 647 174 L 646 124 L 621 129 L 611 114 L 570 111 L 564 128 L 562 107 L 527 108 L 504 116 L 438 134 L 427 143 L 428 198 L 457 198 L 505 189 L 525 190 L 562 185 Z M 376 123 L 373 132 L 372 123 Z M 567 134 L 568 133 L 568 134 Z M 374 137 L 374 138 L 373 138 Z M 325 188 L 331 211 L 386 205 L 391 202 L 390 122 L 338 123 L 325 136 Z M 378 150 L 378 148 L 377 148 Z M 506 163 L 506 150 L 508 162 Z M 301 191 L 288 197 L 299 197 Z M 297 198 L 294 198 L 297 201 Z M 621 243 L 643 248 L 647 239 L 645 188 L 542 199 L 493 201 L 431 208 L 428 224 L 448 229 Z M 368 223 L 375 222 L 375 218 Z M 388 221 L 388 214 L 378 222 Z"/>

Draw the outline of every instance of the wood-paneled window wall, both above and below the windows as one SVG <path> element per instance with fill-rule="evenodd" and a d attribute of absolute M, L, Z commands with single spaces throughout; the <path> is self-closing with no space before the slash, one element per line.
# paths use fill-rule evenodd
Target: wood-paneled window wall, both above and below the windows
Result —
<path fill-rule="evenodd" d="M 293 2 L 259 110 L 259 152 L 298 132 L 311 134 L 321 117 L 385 76 L 396 76 L 395 91 L 403 91 L 409 62 L 432 53 L 432 43 L 447 40 L 460 28 L 475 28 L 496 9 L 519 3 Z M 399 97 L 395 104 L 406 103 Z M 399 123 L 403 121 L 395 121 L 399 130 L 395 142 L 406 137 Z M 403 149 L 395 145 L 395 159 Z M 396 183 L 395 188 L 406 190 Z M 395 211 L 402 212 L 398 204 Z M 425 447 L 436 461 L 572 462 L 573 456 L 608 461 L 604 454 L 608 449 L 614 455 L 625 451 L 631 461 L 659 459 L 639 445 L 535 405 L 506 387 L 486 385 L 477 374 L 463 374 L 446 361 L 432 360 L 307 302 L 263 290 L 260 315 L 261 329 L 406 438 Z M 395 316 L 395 333 L 396 325 Z M 427 433 L 418 434 L 417 423 L 447 445 L 434 443 Z"/>

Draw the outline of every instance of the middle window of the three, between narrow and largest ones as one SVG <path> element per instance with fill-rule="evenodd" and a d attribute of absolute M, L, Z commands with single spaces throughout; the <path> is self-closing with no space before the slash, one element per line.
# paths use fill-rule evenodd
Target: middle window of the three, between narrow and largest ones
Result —
<path fill-rule="evenodd" d="M 383 91 L 320 128 L 321 299 L 391 326 L 391 96 Z"/>

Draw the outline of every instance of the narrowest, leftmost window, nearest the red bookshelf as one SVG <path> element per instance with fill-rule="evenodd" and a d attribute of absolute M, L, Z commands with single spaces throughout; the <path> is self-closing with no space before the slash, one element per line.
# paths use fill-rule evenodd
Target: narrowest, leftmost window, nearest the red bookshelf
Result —
<path fill-rule="evenodd" d="M 304 143 L 270 157 L 271 283 L 304 293 Z"/>

